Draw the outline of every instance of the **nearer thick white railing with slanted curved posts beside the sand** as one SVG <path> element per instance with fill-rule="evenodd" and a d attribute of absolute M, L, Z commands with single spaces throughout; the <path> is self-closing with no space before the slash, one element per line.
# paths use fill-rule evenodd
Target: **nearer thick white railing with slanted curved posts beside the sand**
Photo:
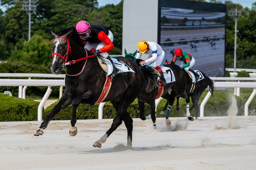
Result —
<path fill-rule="evenodd" d="M 52 75 L 52 74 L 50 74 Z M 38 76 L 38 75 L 37 75 Z M 10 77 L 10 76 L 8 76 Z M 222 78 L 222 77 L 216 77 L 212 78 L 215 80 L 255 80 L 255 78 Z M 52 91 L 52 86 L 65 86 L 65 80 L 39 80 L 39 79 L 0 79 L 0 86 L 48 86 L 46 94 L 44 94 L 44 97 L 42 98 L 42 101 L 40 102 L 38 106 L 38 121 L 42 121 L 42 107 L 44 106 L 44 103 L 50 96 L 50 93 Z M 245 106 L 244 106 L 244 115 L 248 116 L 248 106 L 252 99 L 254 98 L 256 94 L 256 82 L 214 82 L 214 88 L 254 88 L 251 96 L 247 100 Z M 204 116 L 204 105 L 210 98 L 210 93 L 206 95 L 204 98 L 201 106 L 200 106 L 200 117 Z M 161 98 L 156 100 L 156 107 L 158 103 L 160 102 Z M 103 109 L 104 103 L 101 103 L 99 106 L 99 115 L 98 119 L 102 119 L 102 109 Z"/>

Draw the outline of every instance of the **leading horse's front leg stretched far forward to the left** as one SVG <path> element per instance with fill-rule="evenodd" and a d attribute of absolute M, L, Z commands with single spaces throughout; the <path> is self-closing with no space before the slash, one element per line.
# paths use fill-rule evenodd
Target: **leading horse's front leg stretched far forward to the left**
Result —
<path fill-rule="evenodd" d="M 60 98 L 60 101 L 58 102 L 58 104 L 56 104 L 56 106 L 53 107 L 53 109 L 50 111 L 50 113 L 47 115 L 47 117 L 41 123 L 40 127 L 36 130 L 36 132 L 34 133 L 34 136 L 43 135 L 43 133 L 44 133 L 43 130 L 46 129 L 46 127 L 48 126 L 48 123 L 50 122 L 52 117 L 54 117 L 54 115 L 59 113 L 61 110 L 68 107 L 71 104 L 71 102 L 72 102 L 72 98 L 68 97 L 68 95 L 65 91 L 63 93 L 62 97 Z"/>

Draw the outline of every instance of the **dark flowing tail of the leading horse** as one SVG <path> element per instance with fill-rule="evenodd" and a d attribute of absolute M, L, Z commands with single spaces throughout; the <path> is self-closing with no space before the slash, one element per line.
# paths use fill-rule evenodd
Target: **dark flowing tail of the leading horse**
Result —
<path fill-rule="evenodd" d="M 140 68 L 145 78 L 145 90 L 151 92 L 154 88 L 159 87 L 157 83 L 158 71 L 146 67 Z"/>

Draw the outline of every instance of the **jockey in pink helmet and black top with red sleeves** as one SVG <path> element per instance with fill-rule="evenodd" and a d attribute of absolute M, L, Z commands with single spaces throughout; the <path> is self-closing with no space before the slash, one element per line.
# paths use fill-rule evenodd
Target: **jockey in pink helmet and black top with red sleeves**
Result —
<path fill-rule="evenodd" d="M 114 44 L 112 43 L 114 40 L 113 33 L 103 25 L 90 25 L 87 21 L 79 21 L 76 24 L 76 31 L 80 39 L 86 41 L 85 49 L 89 51 L 92 48 L 96 49 L 93 55 L 100 55 L 112 63 L 113 72 L 111 78 L 113 78 L 119 71 L 107 53 L 107 51 L 114 48 Z"/>

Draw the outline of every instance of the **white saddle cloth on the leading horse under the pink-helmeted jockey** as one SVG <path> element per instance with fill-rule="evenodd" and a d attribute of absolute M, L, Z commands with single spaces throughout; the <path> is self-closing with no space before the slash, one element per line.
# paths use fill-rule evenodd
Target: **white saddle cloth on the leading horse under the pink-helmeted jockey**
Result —
<path fill-rule="evenodd" d="M 115 64 L 116 68 L 118 68 L 118 70 L 119 70 L 118 73 L 121 73 L 121 72 L 134 72 L 134 70 L 132 70 L 132 68 L 130 68 L 124 62 L 122 62 L 122 61 L 120 61 L 118 59 L 115 59 L 115 58 L 111 58 L 111 59 L 112 59 L 113 63 Z M 102 69 L 105 72 L 107 72 L 108 73 L 107 75 L 109 76 L 112 73 L 112 71 L 113 71 L 112 63 L 108 59 L 105 59 L 103 57 L 98 57 L 98 61 L 100 63 L 100 66 L 102 67 Z"/>

